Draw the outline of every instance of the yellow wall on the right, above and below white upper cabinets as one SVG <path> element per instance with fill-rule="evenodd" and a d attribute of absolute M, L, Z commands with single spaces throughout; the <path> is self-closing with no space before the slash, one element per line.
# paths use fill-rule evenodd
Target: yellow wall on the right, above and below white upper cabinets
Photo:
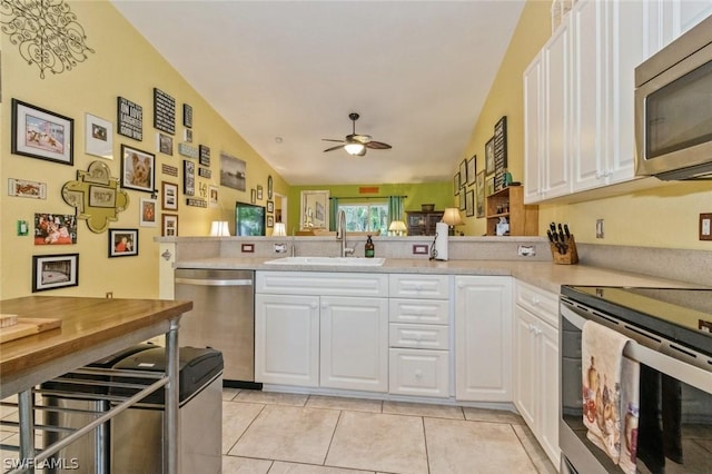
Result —
<path fill-rule="evenodd" d="M 523 179 L 523 90 L 522 76 L 551 36 L 550 1 L 528 0 L 510 43 L 485 107 L 473 130 L 466 156 L 478 157 L 477 169 L 484 167 L 485 142 L 494 124 L 507 116 L 507 156 L 515 181 Z M 462 158 L 454 164 L 456 172 Z M 624 196 L 587 200 L 578 204 L 540 206 L 540 235 L 547 223 L 568 223 L 580 243 L 712 249 L 710 241 L 698 239 L 700 213 L 712 211 L 712 184 L 680 182 Z M 595 238 L 595 221 L 604 219 L 605 238 Z M 466 235 L 482 235 L 485 219 L 467 218 Z"/>

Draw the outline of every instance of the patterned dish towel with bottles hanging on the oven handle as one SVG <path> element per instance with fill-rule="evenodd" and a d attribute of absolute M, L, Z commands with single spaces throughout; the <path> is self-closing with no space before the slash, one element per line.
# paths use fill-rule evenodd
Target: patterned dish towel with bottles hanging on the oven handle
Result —
<path fill-rule="evenodd" d="M 624 472 L 635 473 L 640 365 L 623 355 L 632 339 L 592 320 L 581 337 L 587 437 Z"/>

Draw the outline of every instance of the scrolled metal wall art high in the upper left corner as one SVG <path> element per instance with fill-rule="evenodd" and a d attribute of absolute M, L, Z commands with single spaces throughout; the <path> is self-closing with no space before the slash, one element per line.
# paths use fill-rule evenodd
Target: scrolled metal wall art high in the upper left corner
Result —
<path fill-rule="evenodd" d="M 65 0 L 2 0 L 0 31 L 17 45 L 29 66 L 58 75 L 83 62 L 87 52 L 85 29 Z"/>

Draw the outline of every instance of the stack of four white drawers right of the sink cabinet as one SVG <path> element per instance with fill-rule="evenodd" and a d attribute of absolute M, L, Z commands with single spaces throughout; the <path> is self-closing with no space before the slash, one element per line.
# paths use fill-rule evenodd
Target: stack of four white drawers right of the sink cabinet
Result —
<path fill-rule="evenodd" d="M 390 275 L 389 393 L 449 395 L 449 278 Z"/>

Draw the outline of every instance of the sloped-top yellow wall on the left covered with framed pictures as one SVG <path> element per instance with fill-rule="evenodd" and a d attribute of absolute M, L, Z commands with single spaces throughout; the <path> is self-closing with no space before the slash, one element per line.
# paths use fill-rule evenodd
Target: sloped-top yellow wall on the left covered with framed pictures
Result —
<path fill-rule="evenodd" d="M 219 208 L 195 208 L 185 205 L 185 196 L 179 201 L 179 235 L 207 235 L 214 219 L 230 221 L 234 231 L 235 201 L 249 201 L 250 188 L 261 185 L 267 189 L 267 176 L 274 178 L 276 192 L 286 195 L 288 185 L 271 169 L 225 120 L 159 56 L 154 48 L 107 1 L 70 1 L 72 12 L 85 28 L 87 45 L 93 49 L 85 62 L 59 75 L 47 73 L 40 79 L 39 69 L 28 66 L 20 57 L 18 47 L 11 45 L 7 34 L 0 36 L 2 50 L 2 159 L 0 159 L 0 181 L 7 186 L 8 178 L 27 179 L 47 184 L 48 198 L 36 200 L 10 197 L 0 192 L 2 226 L 0 231 L 0 297 L 11 298 L 31 293 L 32 255 L 80 254 L 79 286 L 55 289 L 46 294 L 103 296 L 113 292 L 115 297 L 158 296 L 158 227 L 139 227 L 138 204 L 148 192 L 128 190 L 130 204 L 119 214 L 112 228 L 139 229 L 139 255 L 136 257 L 108 258 L 108 233 L 93 234 L 83 220 L 78 225 L 77 245 L 36 246 L 31 231 L 29 236 L 16 235 L 16 221 L 30 223 L 36 213 L 73 214 L 75 209 L 61 198 L 65 182 L 76 179 L 77 170 L 86 170 L 95 160 L 102 160 L 115 177 L 120 171 L 121 144 L 156 154 L 156 186 L 161 181 L 179 185 L 182 191 L 182 160 L 177 152 L 184 134 L 181 109 L 189 103 L 194 109 L 194 141 L 210 148 L 211 179 L 197 177 L 200 184 L 219 185 L 219 155 L 226 151 L 247 162 L 247 191 L 219 188 Z M 209 73 L 209 71 L 206 71 Z M 177 119 L 174 137 L 174 155 L 156 151 L 156 129 L 154 129 L 152 91 L 157 87 L 176 99 Z M 136 141 L 116 134 L 117 97 L 123 97 L 142 107 L 144 140 Z M 67 166 L 10 154 L 10 99 L 17 98 L 33 106 L 70 117 L 75 120 L 75 165 Z M 113 124 L 113 160 L 103 160 L 85 154 L 85 113 L 109 120 Z M 169 164 L 179 168 L 179 176 L 161 174 L 160 165 Z M 197 196 L 196 196 L 197 197 Z M 263 199 L 261 204 L 265 204 Z M 160 201 L 159 201 L 160 203 Z M 160 220 L 159 220 L 160 223 Z"/>

